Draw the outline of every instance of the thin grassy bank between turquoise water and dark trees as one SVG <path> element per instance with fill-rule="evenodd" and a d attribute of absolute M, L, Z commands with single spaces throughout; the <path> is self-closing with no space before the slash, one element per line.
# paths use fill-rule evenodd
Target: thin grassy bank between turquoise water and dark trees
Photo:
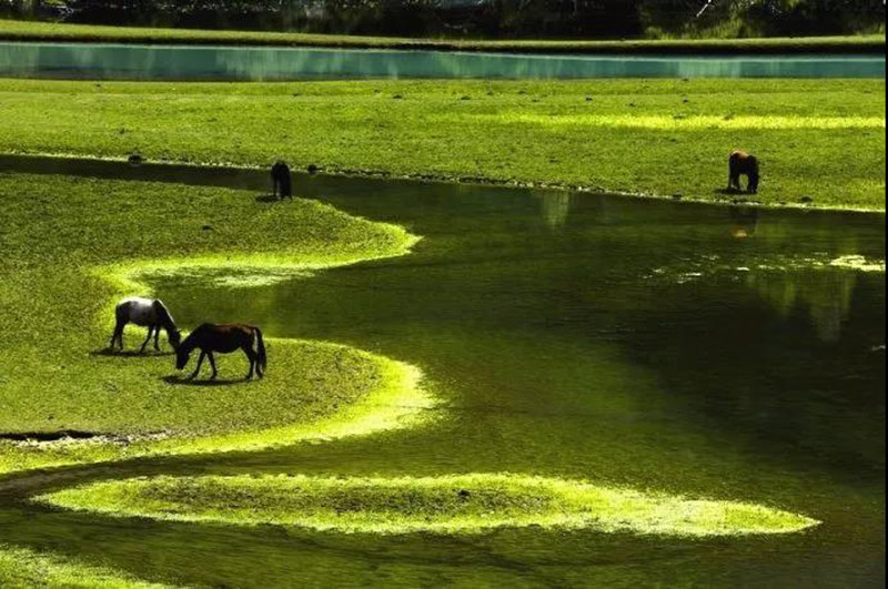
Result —
<path fill-rule="evenodd" d="M 444 40 L 342 34 L 275 33 L 60 24 L 0 20 L 0 40 L 101 43 L 430 49 L 522 53 L 884 53 L 885 35 L 770 39 L 665 39 L 636 41 Z"/>

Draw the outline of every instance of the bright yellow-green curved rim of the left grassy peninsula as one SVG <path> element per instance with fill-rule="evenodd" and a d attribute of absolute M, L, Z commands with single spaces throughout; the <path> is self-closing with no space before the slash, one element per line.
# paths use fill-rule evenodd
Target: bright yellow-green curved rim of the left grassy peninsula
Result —
<path fill-rule="evenodd" d="M 137 261 L 103 265 L 87 270 L 114 288 L 114 296 L 97 315 L 95 323 L 110 333 L 113 325 L 113 309 L 122 296 L 145 296 L 151 294 L 145 277 L 176 271 L 250 271 L 304 274 L 329 270 L 360 262 L 406 255 L 422 238 L 407 233 L 398 225 L 387 225 L 401 234 L 398 247 L 392 252 L 367 256 L 312 256 L 289 254 L 215 254 L 184 258 Z M 63 445 L 48 444 L 32 447 L 28 451 L 2 451 L 0 444 L 0 476 L 38 468 L 56 468 L 83 464 L 98 464 L 151 456 L 209 454 L 228 451 L 254 451 L 293 445 L 319 443 L 351 436 L 371 435 L 386 429 L 413 427 L 430 416 L 426 409 L 436 405 L 436 399 L 422 387 L 422 370 L 413 365 L 394 360 L 377 354 L 360 351 L 351 346 L 329 342 L 306 342 L 294 338 L 268 337 L 268 342 L 279 346 L 310 344 L 314 346 L 347 349 L 367 363 L 374 364 L 382 375 L 381 384 L 353 405 L 339 408 L 333 414 L 316 420 L 289 424 L 249 431 L 231 431 L 205 436 L 134 436 L 130 443 L 119 444 L 102 438 L 70 441 Z M 9 447 L 9 445 L 6 445 Z M 8 448 L 7 448 L 8 449 Z"/>

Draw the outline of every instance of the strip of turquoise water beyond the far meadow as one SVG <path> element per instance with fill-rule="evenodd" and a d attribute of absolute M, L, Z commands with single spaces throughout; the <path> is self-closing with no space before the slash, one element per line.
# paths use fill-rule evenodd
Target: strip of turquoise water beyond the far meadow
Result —
<path fill-rule="evenodd" d="M 306 78 L 885 78 L 884 55 L 531 55 L 2 43 L 0 75 L 135 80 Z"/>

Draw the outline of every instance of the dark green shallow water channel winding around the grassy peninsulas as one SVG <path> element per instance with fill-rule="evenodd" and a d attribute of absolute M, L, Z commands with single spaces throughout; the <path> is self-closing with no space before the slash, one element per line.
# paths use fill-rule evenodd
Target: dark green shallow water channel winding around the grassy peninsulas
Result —
<path fill-rule="evenodd" d="M 263 206 L 287 206 L 264 202 L 259 172 L 58 165 L 248 187 Z M 51 512 L 7 488 L 3 541 L 231 587 L 884 582 L 885 273 L 830 264 L 884 261 L 884 216 L 325 176 L 301 176 L 295 191 L 424 238 L 411 255 L 311 277 L 159 282 L 158 294 L 185 326 L 245 321 L 415 364 L 442 399 L 435 419 L 23 484 L 511 471 L 746 500 L 823 525 L 708 540 L 537 528 L 345 535 Z"/>

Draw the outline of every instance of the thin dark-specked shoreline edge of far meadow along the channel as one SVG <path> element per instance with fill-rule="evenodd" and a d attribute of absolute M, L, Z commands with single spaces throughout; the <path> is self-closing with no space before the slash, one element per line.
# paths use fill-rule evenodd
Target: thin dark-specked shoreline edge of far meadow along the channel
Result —
<path fill-rule="evenodd" d="M 33 150 L 19 150 L 19 151 L 3 151 L 0 150 L 0 156 L 23 156 L 23 158 L 47 158 L 47 159 L 59 159 L 59 160 L 91 160 L 97 162 L 117 162 L 117 163 L 127 163 L 125 158 L 114 158 L 114 156 L 97 156 L 89 153 L 75 153 L 75 152 L 48 152 L 48 151 L 33 151 Z M 232 170 L 262 170 L 264 169 L 262 165 L 245 165 L 243 163 L 236 162 L 211 162 L 211 161 L 179 161 L 179 160 L 164 160 L 164 161 L 157 161 L 157 162 L 148 162 L 152 165 L 174 165 L 174 166 L 186 166 L 186 167 L 205 167 L 205 169 L 232 169 Z M 738 194 L 736 199 L 700 199 L 700 197 L 683 197 L 682 200 L 676 200 L 675 196 L 670 196 L 667 194 L 657 194 L 652 192 L 627 192 L 627 191 L 617 191 L 617 190 L 608 190 L 602 186 L 595 185 L 585 185 L 585 184 L 572 184 L 572 183 L 564 183 L 564 182 L 529 182 L 529 181 L 516 181 L 516 180 L 502 180 L 496 177 L 486 177 L 486 176 L 462 176 L 462 175 L 436 175 L 436 174 L 397 174 L 392 173 L 389 171 L 380 171 L 380 170 L 363 170 L 363 169 L 334 169 L 334 167 L 325 167 L 323 172 L 317 172 L 319 175 L 327 175 L 334 177 L 356 177 L 356 179 L 370 179 L 370 180 L 401 180 L 401 181 L 408 181 L 408 182 L 416 182 L 418 184 L 465 184 L 465 185 L 476 185 L 476 186 L 494 186 L 497 189 L 504 190 L 519 190 L 519 189 L 542 189 L 542 190 L 553 190 L 553 191 L 569 191 L 569 192 L 581 192 L 581 193 L 591 193 L 591 194 L 606 194 L 609 196 L 619 196 L 624 199 L 642 199 L 648 201 L 670 201 L 674 203 L 686 203 L 686 204 L 706 204 L 713 206 L 736 206 L 739 204 L 745 204 L 748 206 L 755 206 L 758 209 L 765 210 L 795 210 L 795 211 L 825 211 L 825 212 L 842 212 L 842 213 L 861 213 L 861 214 L 875 214 L 885 216 L 886 209 L 885 207 L 872 207 L 872 206 L 864 206 L 864 205 L 852 205 L 852 206 L 842 206 L 836 204 L 823 204 L 819 202 L 814 203 L 795 203 L 795 202 L 759 202 L 759 201 L 748 201 L 747 196 L 744 194 Z M 736 202 L 735 202 L 736 201 Z M 327 266 L 330 267 L 330 266 Z"/>

